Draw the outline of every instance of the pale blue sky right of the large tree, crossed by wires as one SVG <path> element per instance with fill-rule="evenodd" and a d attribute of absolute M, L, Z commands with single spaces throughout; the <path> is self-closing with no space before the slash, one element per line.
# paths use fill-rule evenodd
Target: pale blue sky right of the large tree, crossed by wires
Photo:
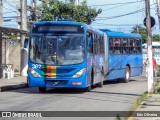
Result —
<path fill-rule="evenodd" d="M 123 3 L 123 4 L 118 4 Z M 125 4 L 124 4 L 125 3 Z M 159 34 L 158 17 L 156 15 L 155 0 L 151 0 L 151 16 L 156 20 L 156 25 L 152 28 L 153 34 Z M 114 5 L 113 5 L 114 4 Z M 115 5 L 116 4 L 116 5 Z M 88 0 L 88 5 L 101 8 L 102 13 L 97 17 L 92 26 L 96 28 L 108 28 L 114 31 L 130 32 L 135 25 L 143 25 L 145 14 L 144 0 Z M 132 14 L 140 10 L 136 14 Z M 126 15 L 130 14 L 130 15 Z M 126 16 L 121 16 L 126 15 Z M 113 16 L 121 16 L 113 18 Z M 105 17 L 105 20 L 104 20 Z M 107 19 L 108 18 L 108 19 Z"/>

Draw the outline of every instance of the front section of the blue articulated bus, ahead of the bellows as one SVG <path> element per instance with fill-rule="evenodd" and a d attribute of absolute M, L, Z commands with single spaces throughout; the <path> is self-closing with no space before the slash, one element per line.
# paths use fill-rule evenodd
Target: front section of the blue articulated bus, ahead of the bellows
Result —
<path fill-rule="evenodd" d="M 36 22 L 30 31 L 28 85 L 40 92 L 102 87 L 106 55 L 106 34 L 100 30 L 67 20 Z"/>

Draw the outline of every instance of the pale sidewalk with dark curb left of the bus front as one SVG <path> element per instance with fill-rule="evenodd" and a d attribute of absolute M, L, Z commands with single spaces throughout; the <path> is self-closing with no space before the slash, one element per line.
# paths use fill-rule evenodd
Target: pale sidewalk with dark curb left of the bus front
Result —
<path fill-rule="evenodd" d="M 15 75 L 14 78 L 0 79 L 0 92 L 27 87 L 27 77 Z"/>

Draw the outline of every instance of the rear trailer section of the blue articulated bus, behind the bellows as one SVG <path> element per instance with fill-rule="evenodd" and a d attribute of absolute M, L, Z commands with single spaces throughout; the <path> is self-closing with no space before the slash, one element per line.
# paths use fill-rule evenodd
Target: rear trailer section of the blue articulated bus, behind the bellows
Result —
<path fill-rule="evenodd" d="M 105 80 L 121 79 L 129 82 L 131 76 L 139 76 L 143 69 L 142 38 L 139 34 L 114 32 L 101 29 L 107 36 L 108 66 Z"/>

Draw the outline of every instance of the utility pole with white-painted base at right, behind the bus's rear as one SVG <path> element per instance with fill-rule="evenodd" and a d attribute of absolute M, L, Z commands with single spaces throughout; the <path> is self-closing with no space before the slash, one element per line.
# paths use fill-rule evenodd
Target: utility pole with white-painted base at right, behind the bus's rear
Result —
<path fill-rule="evenodd" d="M 148 50 L 148 92 L 153 90 L 153 60 L 152 60 L 152 32 L 150 19 L 150 0 L 145 0 L 146 11 L 146 32 L 147 32 L 147 50 Z"/>

